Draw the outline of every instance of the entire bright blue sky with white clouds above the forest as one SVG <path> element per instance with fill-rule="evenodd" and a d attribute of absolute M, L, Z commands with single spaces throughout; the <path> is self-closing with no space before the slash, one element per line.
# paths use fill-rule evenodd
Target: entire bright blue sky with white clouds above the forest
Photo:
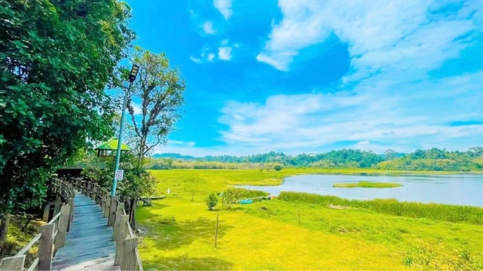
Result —
<path fill-rule="evenodd" d="M 483 145 L 483 1 L 128 3 L 187 84 L 155 153 Z"/>

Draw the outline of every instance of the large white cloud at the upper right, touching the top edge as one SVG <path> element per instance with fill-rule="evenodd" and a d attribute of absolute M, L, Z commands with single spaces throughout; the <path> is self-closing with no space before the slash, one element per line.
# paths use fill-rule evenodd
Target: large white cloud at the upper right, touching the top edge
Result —
<path fill-rule="evenodd" d="M 273 25 L 265 48 L 256 57 L 278 70 L 288 70 L 299 51 L 335 33 L 349 45 L 352 74 L 361 79 L 382 70 L 438 67 L 457 57 L 467 44 L 455 40 L 470 33 L 467 15 L 433 18 L 438 1 L 310 1 L 280 0 L 283 20 Z M 465 13 L 482 2 L 465 2 Z"/>

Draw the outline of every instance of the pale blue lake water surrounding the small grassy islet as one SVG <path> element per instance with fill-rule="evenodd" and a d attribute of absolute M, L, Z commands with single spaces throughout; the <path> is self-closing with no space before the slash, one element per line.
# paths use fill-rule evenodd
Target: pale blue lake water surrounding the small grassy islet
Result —
<path fill-rule="evenodd" d="M 341 182 L 396 182 L 394 188 L 335 188 Z M 347 199 L 398 199 L 399 201 L 483 207 L 483 175 L 299 175 L 286 177 L 278 186 L 239 186 L 278 195 L 282 191 L 333 195 Z"/>

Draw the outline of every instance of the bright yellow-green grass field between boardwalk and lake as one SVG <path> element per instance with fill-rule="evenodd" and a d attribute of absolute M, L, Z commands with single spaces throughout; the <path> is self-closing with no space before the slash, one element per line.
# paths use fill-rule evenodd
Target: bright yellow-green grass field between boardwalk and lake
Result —
<path fill-rule="evenodd" d="M 483 228 L 468 222 L 394 216 L 367 208 L 330 209 L 320 199 L 301 201 L 295 195 L 234 204 L 231 209 L 219 205 L 215 211 L 205 206 L 210 192 L 234 184 L 273 185 L 286 175 L 361 172 L 152 171 L 159 193 L 169 188 L 171 194 L 137 211 L 146 231 L 140 248 L 143 265 L 158 270 L 454 270 L 460 262 L 466 268 L 459 270 L 483 268 Z"/>

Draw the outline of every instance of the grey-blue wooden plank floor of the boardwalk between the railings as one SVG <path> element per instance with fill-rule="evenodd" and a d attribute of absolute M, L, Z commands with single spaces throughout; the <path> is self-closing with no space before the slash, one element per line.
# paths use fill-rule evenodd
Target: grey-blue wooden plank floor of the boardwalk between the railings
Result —
<path fill-rule="evenodd" d="M 114 266 L 116 242 L 101 207 L 77 193 L 74 216 L 65 246 L 53 258 L 53 270 L 120 270 Z"/>

